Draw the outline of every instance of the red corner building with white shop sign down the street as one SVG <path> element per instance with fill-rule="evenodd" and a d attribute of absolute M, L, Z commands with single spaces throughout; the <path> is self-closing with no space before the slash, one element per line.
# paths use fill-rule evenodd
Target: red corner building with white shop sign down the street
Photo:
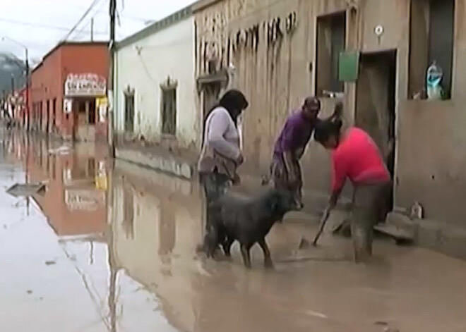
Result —
<path fill-rule="evenodd" d="M 29 128 L 66 140 L 106 140 L 107 42 L 61 42 L 31 73 Z"/>

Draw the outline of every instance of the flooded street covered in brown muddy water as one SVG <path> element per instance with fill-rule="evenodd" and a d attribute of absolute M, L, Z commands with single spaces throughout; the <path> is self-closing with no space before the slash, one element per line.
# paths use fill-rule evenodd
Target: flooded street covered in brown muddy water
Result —
<path fill-rule="evenodd" d="M 1 138 L 1 137 L 0 137 Z M 275 270 L 196 256 L 194 183 L 5 133 L 0 185 L 47 181 L 33 199 L 0 191 L 2 331 L 466 331 L 466 263 L 378 240 L 368 265 L 349 242 L 295 214 L 270 233 Z"/>

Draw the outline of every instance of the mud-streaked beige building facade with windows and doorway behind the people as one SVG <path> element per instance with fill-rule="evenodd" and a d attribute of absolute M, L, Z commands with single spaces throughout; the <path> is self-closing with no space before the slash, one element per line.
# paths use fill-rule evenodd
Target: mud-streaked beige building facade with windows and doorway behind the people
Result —
<path fill-rule="evenodd" d="M 304 97 L 320 97 L 323 116 L 342 99 L 345 122 L 366 129 L 383 152 L 395 140 L 393 209 L 420 202 L 426 218 L 466 227 L 464 0 L 202 0 L 194 12 L 201 110 L 231 68 L 251 101 L 246 171 L 268 171 L 273 142 Z M 434 61 L 446 100 L 424 97 Z M 307 189 L 328 192 L 329 156 L 313 142 L 303 169 Z"/>

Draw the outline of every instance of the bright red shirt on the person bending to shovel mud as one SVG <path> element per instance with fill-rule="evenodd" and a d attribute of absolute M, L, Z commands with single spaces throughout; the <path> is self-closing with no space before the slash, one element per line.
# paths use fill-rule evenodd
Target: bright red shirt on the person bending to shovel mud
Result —
<path fill-rule="evenodd" d="M 376 143 L 364 130 L 352 127 L 342 135 L 338 147 L 332 152 L 333 192 L 352 183 L 387 183 L 390 173 L 383 162 Z"/>

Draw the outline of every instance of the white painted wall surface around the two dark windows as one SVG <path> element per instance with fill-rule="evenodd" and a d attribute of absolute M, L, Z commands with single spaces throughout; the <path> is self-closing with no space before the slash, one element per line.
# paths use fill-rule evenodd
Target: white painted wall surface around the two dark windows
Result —
<path fill-rule="evenodd" d="M 138 51 L 139 50 L 139 51 Z M 159 142 L 162 128 L 160 85 L 177 80 L 177 140 L 181 147 L 200 141 L 194 63 L 194 18 L 117 50 L 115 78 L 115 128 L 124 131 L 124 90 L 135 90 L 135 135 Z"/>

